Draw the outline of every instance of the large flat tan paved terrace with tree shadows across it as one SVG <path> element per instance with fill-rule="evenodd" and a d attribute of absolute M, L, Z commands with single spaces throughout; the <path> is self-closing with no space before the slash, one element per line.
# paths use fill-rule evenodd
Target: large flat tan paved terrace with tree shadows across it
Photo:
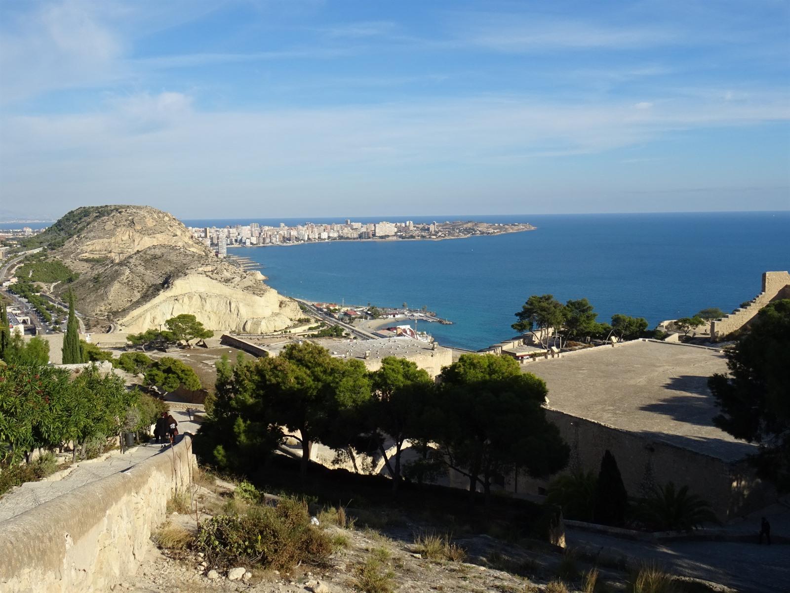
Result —
<path fill-rule="evenodd" d="M 546 381 L 554 410 L 726 462 L 754 452 L 754 445 L 713 426 L 718 408 L 707 380 L 714 372 L 727 372 L 726 359 L 716 350 L 639 340 L 523 368 Z"/>

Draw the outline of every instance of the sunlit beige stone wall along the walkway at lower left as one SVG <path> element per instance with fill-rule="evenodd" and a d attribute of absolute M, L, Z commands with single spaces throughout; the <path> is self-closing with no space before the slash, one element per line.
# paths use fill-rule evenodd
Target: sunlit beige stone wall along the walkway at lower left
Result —
<path fill-rule="evenodd" d="M 188 489 L 193 459 L 184 435 L 128 471 L 0 523 L 0 591 L 92 593 L 134 575 L 167 500 Z"/>

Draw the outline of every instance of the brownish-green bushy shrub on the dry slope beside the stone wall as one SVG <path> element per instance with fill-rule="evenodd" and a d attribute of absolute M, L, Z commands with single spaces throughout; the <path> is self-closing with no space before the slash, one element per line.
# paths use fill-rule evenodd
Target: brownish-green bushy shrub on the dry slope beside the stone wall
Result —
<path fill-rule="evenodd" d="M 332 552 L 332 541 L 310 525 L 307 504 L 283 499 L 276 507 L 255 505 L 239 516 L 220 515 L 201 523 L 198 551 L 216 565 L 249 561 L 265 568 L 319 564 Z"/>

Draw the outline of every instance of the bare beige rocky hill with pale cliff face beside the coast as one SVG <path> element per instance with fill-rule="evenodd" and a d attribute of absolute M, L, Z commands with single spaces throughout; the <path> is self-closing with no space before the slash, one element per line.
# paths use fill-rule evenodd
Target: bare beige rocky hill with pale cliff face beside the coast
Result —
<path fill-rule="evenodd" d="M 70 284 L 80 312 L 119 331 L 192 313 L 213 330 L 258 333 L 301 316 L 260 273 L 217 259 L 175 217 L 149 206 L 78 208 L 36 239 L 80 274 Z"/>

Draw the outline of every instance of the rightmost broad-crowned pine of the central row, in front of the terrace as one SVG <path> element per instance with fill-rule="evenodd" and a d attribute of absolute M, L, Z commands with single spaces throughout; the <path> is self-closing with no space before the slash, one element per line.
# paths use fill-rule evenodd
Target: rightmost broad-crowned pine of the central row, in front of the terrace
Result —
<path fill-rule="evenodd" d="M 478 484 L 490 500 L 491 482 L 513 471 L 541 477 L 566 466 L 570 449 L 546 418 L 546 395 L 546 383 L 510 357 L 465 354 L 444 368 L 436 440 L 468 477 L 470 500 Z"/>

